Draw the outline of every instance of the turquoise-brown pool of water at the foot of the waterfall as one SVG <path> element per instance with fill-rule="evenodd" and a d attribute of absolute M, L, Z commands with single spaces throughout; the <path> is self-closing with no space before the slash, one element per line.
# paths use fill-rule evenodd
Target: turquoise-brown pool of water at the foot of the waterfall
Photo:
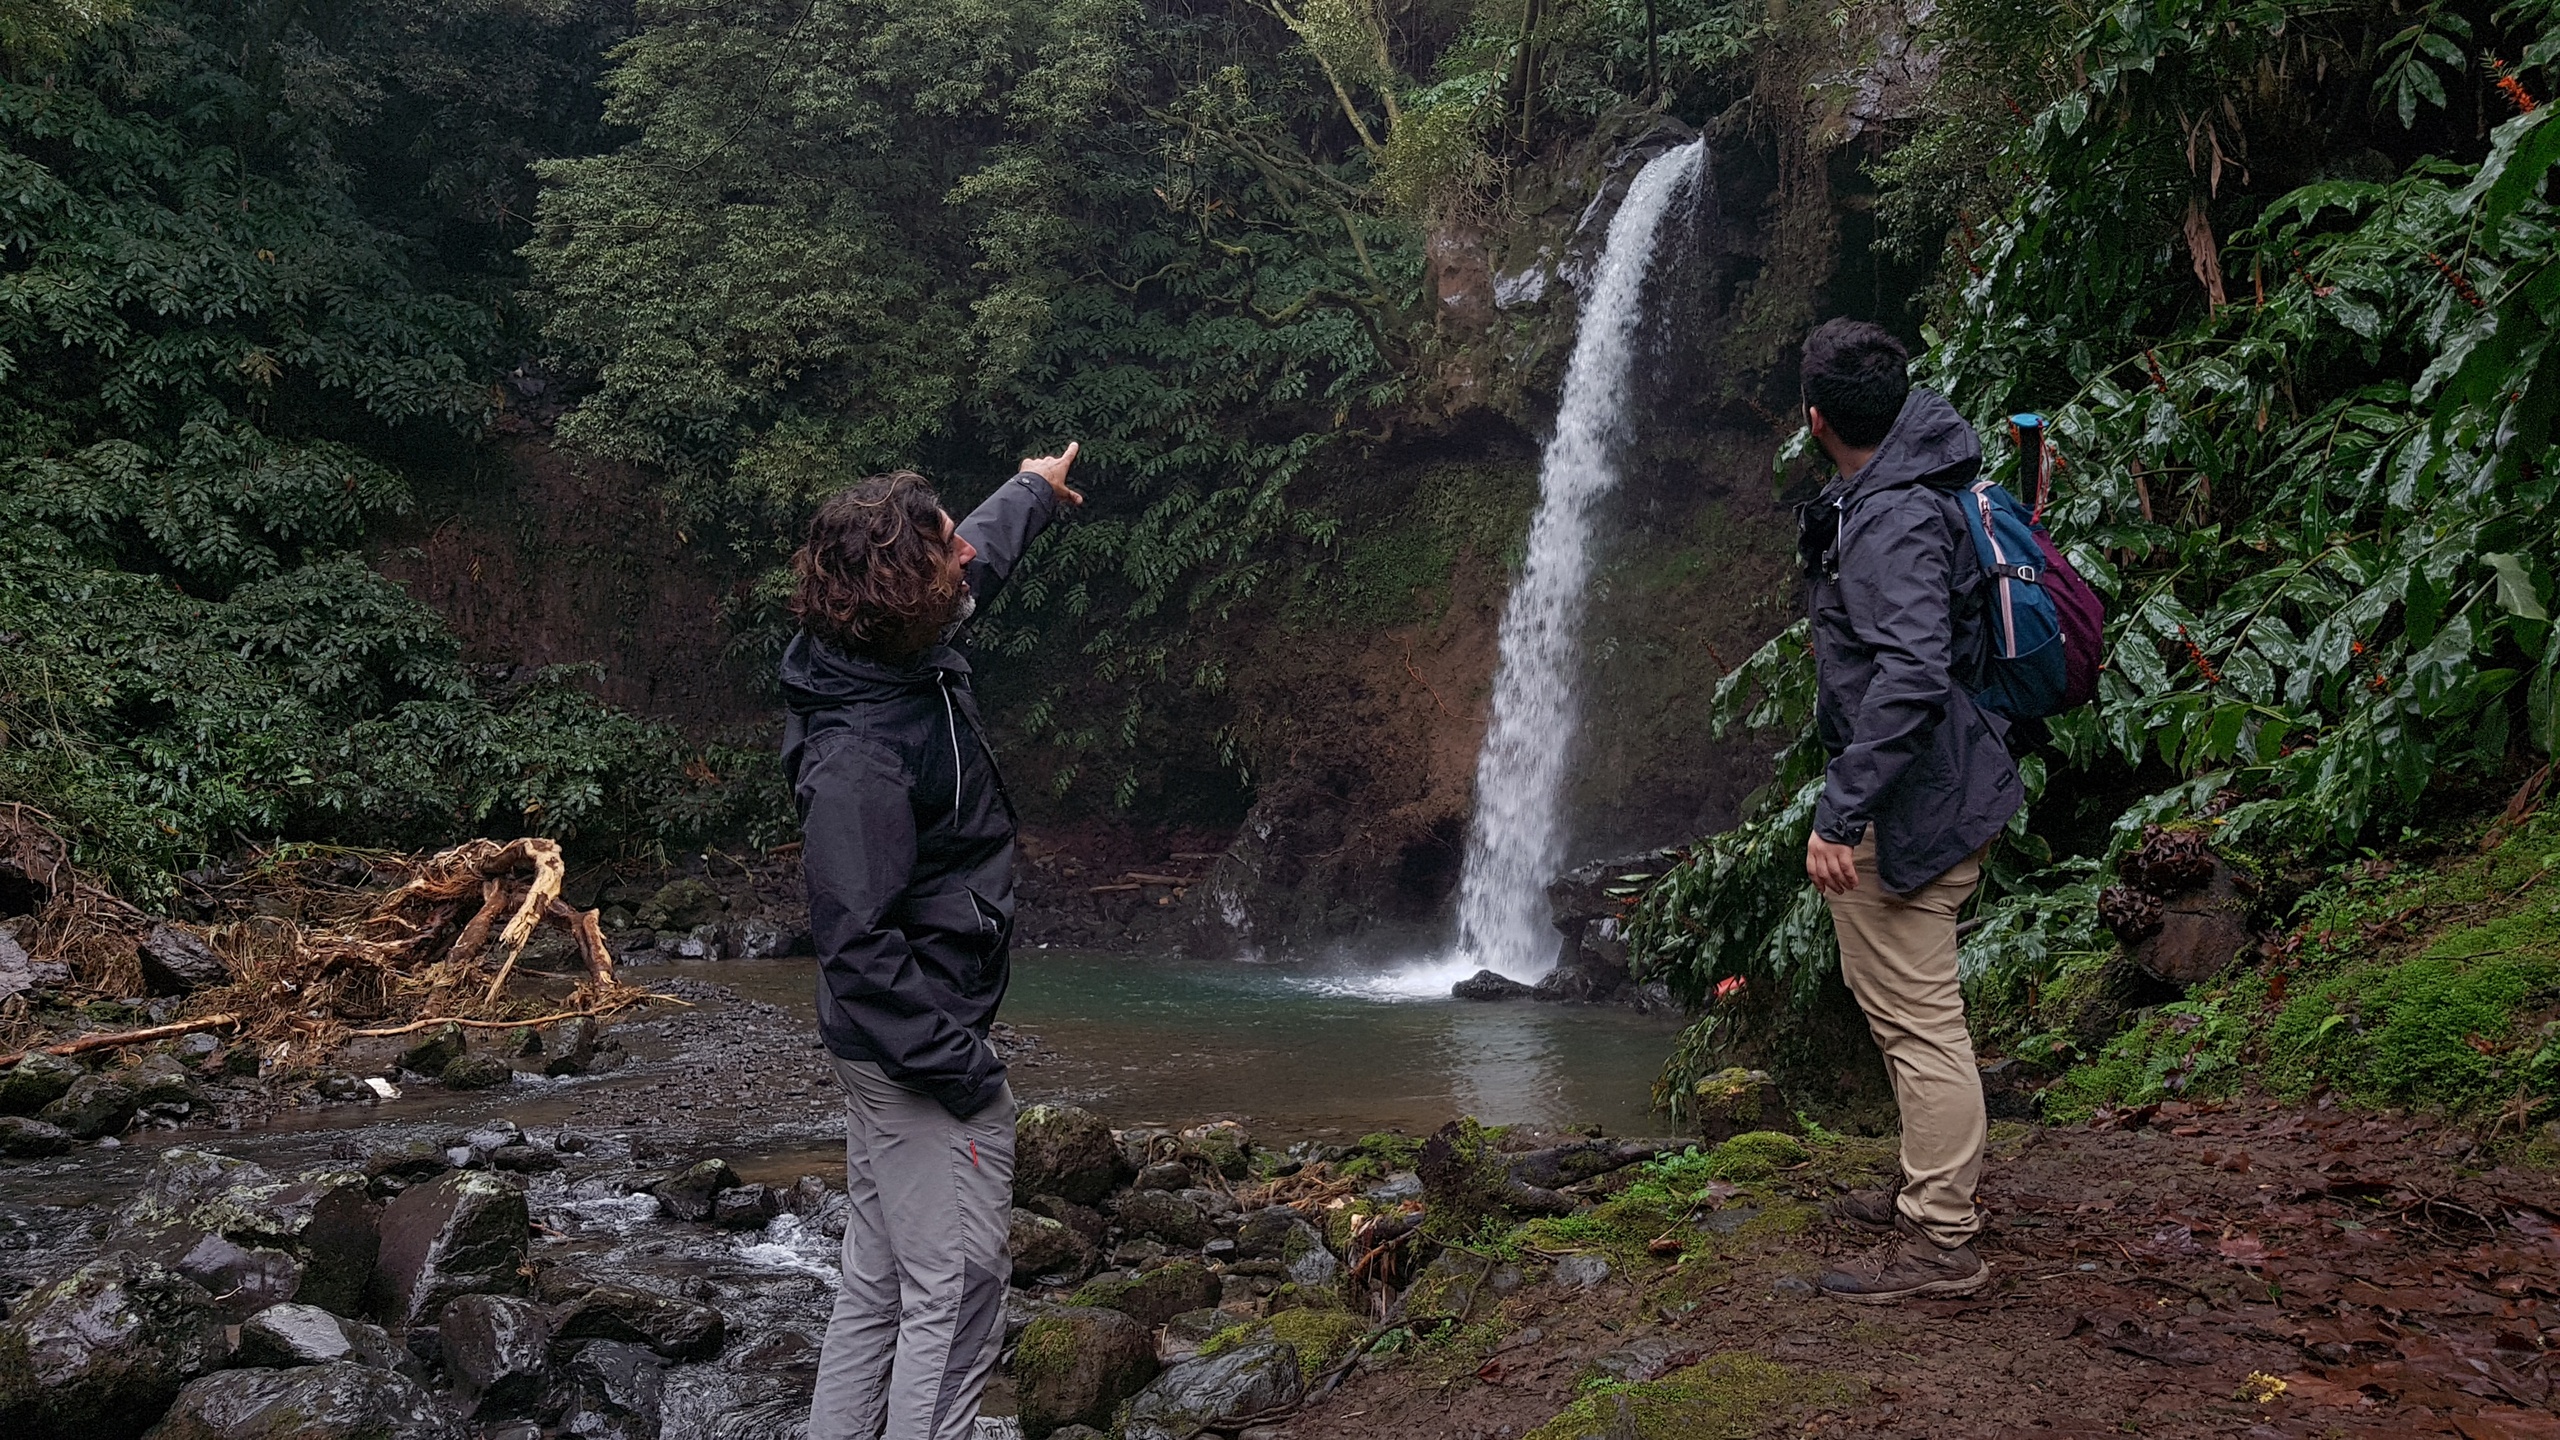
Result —
<path fill-rule="evenodd" d="M 637 979 L 663 971 L 635 971 Z M 812 961 L 684 974 L 814 1015 Z M 1114 1125 L 1247 1120 L 1267 1138 L 1597 1122 L 1664 1130 L 1651 1081 L 1679 1022 L 1539 1002 L 1390 999 L 1377 971 L 1021 951 L 1004 1020 L 1039 1035 L 1024 1099 L 1073 1099 Z"/>

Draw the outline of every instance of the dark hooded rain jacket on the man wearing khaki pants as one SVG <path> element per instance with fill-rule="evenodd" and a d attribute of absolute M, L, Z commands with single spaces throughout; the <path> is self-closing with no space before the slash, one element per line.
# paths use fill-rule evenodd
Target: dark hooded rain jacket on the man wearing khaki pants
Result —
<path fill-rule="evenodd" d="M 1979 851 L 2025 797 L 2007 725 L 1966 694 L 1989 618 L 1956 495 L 1979 469 L 1964 415 L 1912 389 L 1866 466 L 1823 489 L 1838 541 L 1812 574 L 1812 723 L 1830 753 L 1812 828 L 1856 846 L 1874 825 L 1894 894 Z"/>

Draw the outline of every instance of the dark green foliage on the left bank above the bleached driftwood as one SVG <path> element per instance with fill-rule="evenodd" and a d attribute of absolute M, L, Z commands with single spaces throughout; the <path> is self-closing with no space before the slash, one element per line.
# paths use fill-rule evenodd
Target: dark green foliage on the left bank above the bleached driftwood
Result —
<path fill-rule="evenodd" d="M 8 36 L 0 792 L 131 889 L 243 838 L 678 822 L 671 733 L 568 674 L 479 684 L 356 553 L 486 418 L 522 161 L 591 128 L 612 28 L 279 0 Z"/>

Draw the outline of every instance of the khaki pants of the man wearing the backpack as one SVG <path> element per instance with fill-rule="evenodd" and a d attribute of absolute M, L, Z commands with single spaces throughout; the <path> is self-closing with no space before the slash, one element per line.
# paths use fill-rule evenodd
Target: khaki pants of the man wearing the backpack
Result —
<path fill-rule="evenodd" d="M 1943 1248 L 1981 1230 L 1974 1181 L 1981 1179 L 1981 1071 L 1964 1027 L 1956 981 L 1956 912 L 1981 884 L 1976 858 L 1897 897 L 1876 879 L 1876 830 L 1859 840 L 1859 889 L 1830 897 L 1841 933 L 1841 979 L 1859 997 L 1884 1051 L 1884 1074 L 1902 1109 L 1902 1215 Z"/>

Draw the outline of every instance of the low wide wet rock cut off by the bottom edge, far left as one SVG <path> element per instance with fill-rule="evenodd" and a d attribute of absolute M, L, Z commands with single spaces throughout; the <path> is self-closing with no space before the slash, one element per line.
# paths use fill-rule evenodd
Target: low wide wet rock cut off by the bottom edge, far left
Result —
<path fill-rule="evenodd" d="M 371 1366 L 223 1371 L 187 1384 L 148 1440 L 466 1440 L 417 1381 Z"/>

